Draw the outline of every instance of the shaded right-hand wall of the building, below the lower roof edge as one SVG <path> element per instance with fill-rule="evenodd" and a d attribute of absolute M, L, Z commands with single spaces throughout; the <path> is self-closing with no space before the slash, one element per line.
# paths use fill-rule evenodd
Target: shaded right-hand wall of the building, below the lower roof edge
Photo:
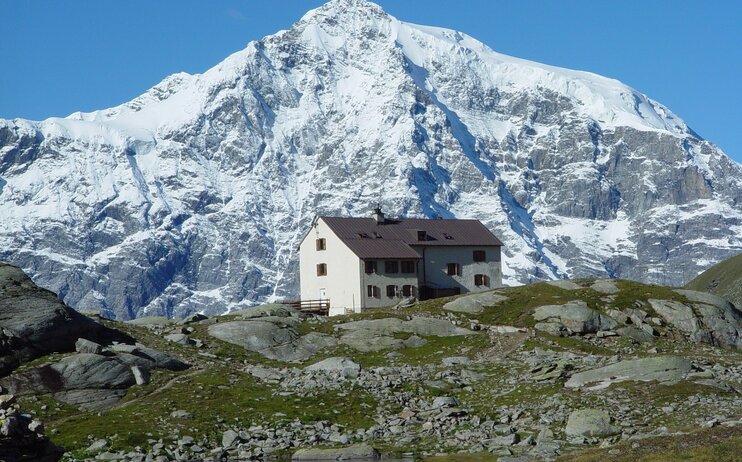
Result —
<path fill-rule="evenodd" d="M 502 286 L 502 262 L 498 246 L 420 246 L 413 248 L 425 259 L 425 273 L 419 274 L 420 285 L 423 277 L 430 287 L 459 287 L 461 293 L 478 292 Z M 474 251 L 484 250 L 485 261 L 475 262 Z M 448 275 L 448 263 L 461 265 L 461 276 Z M 474 275 L 484 274 L 489 278 L 489 286 L 476 286 Z"/>

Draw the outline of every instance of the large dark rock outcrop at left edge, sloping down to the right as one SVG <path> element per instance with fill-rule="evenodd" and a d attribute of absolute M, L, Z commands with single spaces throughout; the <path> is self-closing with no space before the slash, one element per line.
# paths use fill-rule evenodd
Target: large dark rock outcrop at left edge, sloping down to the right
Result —
<path fill-rule="evenodd" d="M 128 335 L 69 309 L 19 268 L 0 263 L 0 376 L 20 361 L 75 351 L 77 342 L 93 343 L 86 339 L 133 342 Z"/>

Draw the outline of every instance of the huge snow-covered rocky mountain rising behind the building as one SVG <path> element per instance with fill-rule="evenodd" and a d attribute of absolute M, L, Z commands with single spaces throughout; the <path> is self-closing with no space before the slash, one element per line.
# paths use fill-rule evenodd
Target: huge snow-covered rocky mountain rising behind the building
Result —
<path fill-rule="evenodd" d="M 111 109 L 0 121 L 0 259 L 108 316 L 297 295 L 315 214 L 478 218 L 510 283 L 679 284 L 742 249 L 742 167 L 612 79 L 333 0 Z"/>

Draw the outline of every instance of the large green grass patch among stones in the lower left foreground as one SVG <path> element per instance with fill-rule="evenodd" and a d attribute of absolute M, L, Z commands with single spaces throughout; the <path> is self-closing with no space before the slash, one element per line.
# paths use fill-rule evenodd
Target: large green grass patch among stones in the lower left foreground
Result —
<path fill-rule="evenodd" d="M 67 450 L 79 450 L 94 439 L 107 438 L 112 449 L 148 446 L 150 439 L 169 439 L 176 434 L 207 437 L 218 441 L 230 425 L 265 425 L 290 422 L 329 421 L 350 429 L 372 425 L 371 410 L 376 401 L 361 389 L 317 390 L 312 396 L 279 396 L 280 391 L 255 381 L 251 376 L 216 367 L 184 378 L 163 393 L 112 410 L 77 413 L 64 420 L 48 420 L 47 427 L 58 430 L 52 440 Z M 353 396 L 353 399 L 348 399 Z M 175 410 L 186 410 L 193 419 L 170 417 Z"/>

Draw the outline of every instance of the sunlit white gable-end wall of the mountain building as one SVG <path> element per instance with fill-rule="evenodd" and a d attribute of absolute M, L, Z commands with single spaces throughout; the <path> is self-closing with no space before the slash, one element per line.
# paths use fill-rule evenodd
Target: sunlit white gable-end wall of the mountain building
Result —
<path fill-rule="evenodd" d="M 316 240 L 324 238 L 326 250 L 317 250 Z M 327 275 L 317 276 L 317 265 L 327 265 Z M 347 309 L 361 311 L 361 261 L 329 227 L 317 220 L 316 226 L 299 247 L 299 287 L 302 300 L 330 300 L 330 316 L 345 314 Z M 324 292 L 323 292 L 324 291 Z"/>

